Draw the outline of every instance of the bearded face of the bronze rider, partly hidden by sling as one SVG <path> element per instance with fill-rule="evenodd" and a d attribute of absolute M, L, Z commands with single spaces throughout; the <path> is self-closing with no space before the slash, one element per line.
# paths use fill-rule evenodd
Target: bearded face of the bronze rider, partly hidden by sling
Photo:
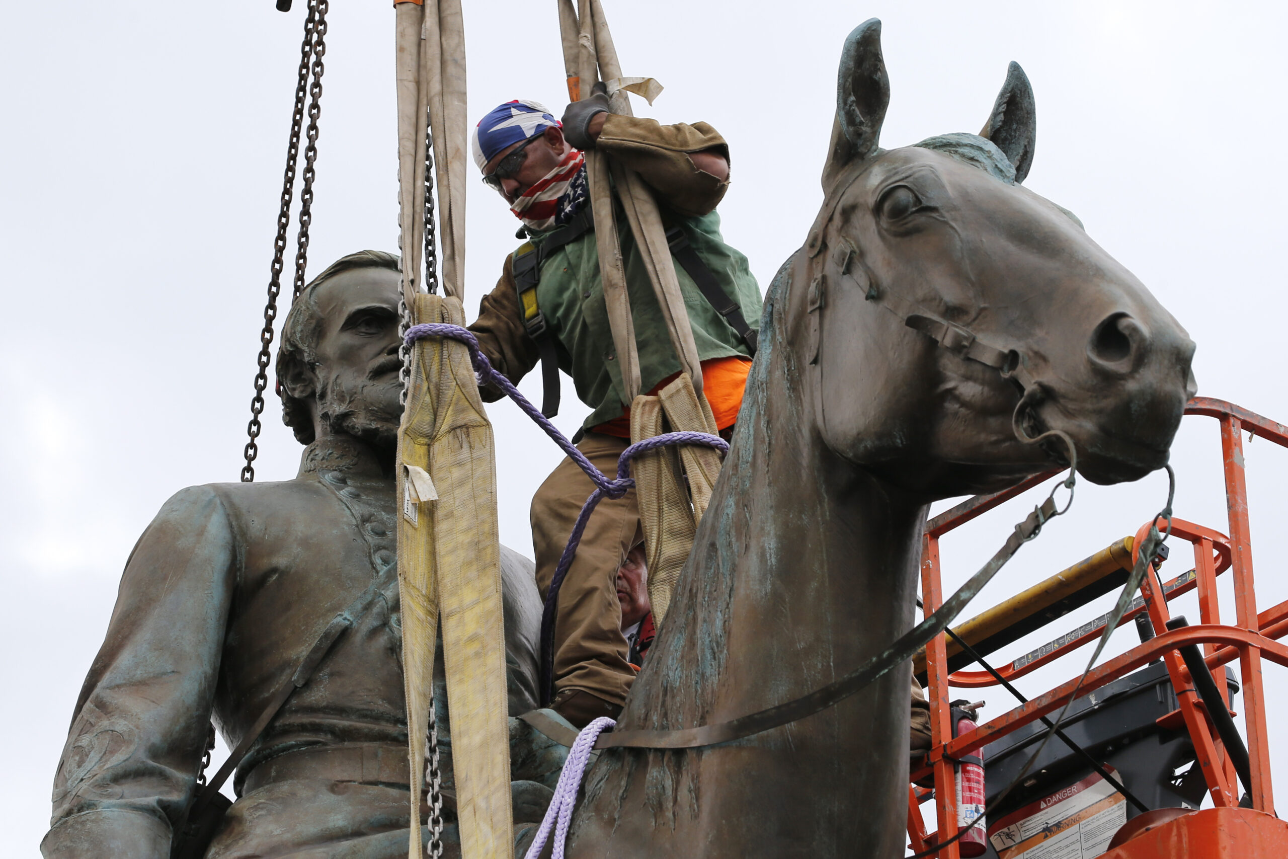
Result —
<path fill-rule="evenodd" d="M 397 444 L 402 404 L 398 377 L 398 272 L 359 268 L 318 286 L 318 415 L 332 433 L 380 447 Z"/>

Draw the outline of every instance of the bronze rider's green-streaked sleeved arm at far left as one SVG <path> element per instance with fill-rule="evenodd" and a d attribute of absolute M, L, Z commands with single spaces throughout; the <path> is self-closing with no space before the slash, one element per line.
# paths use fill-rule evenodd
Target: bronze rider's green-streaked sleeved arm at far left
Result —
<path fill-rule="evenodd" d="M 139 538 L 58 762 L 46 858 L 170 855 L 205 752 L 236 559 L 209 487 L 175 495 Z"/>

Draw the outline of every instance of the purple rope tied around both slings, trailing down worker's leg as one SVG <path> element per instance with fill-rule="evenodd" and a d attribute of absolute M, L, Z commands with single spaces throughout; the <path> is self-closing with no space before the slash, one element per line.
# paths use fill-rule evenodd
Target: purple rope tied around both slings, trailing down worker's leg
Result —
<path fill-rule="evenodd" d="M 474 372 L 478 375 L 479 384 L 493 384 L 504 390 L 510 399 L 518 403 L 519 408 L 522 408 L 528 417 L 535 420 L 537 425 L 546 431 L 546 435 L 554 439 L 555 444 L 563 448 L 563 452 L 567 453 L 568 457 L 586 473 L 586 477 L 589 477 L 591 483 L 596 487 L 590 497 L 586 498 L 586 504 L 582 505 L 581 513 L 577 514 L 577 522 L 572 527 L 572 536 L 568 538 L 568 545 L 564 546 L 563 555 L 559 556 L 559 563 L 555 565 L 555 573 L 550 578 L 550 590 L 546 592 L 546 603 L 541 612 L 541 704 L 549 706 L 550 701 L 554 698 L 554 639 L 555 621 L 559 610 L 559 587 L 563 585 L 564 576 L 568 574 L 572 559 L 577 555 L 577 546 L 581 545 L 581 536 L 586 531 L 586 523 L 590 522 L 590 514 L 595 510 L 595 506 L 605 497 L 621 498 L 635 486 L 635 479 L 631 477 L 631 460 L 638 453 L 668 444 L 705 444 L 725 453 L 729 451 L 729 443 L 719 435 L 711 435 L 708 433 L 683 431 L 654 435 L 644 439 L 643 442 L 636 442 L 622 451 L 622 455 L 617 458 L 617 479 L 611 480 L 603 471 L 596 469 L 595 465 L 586 458 L 586 455 L 578 451 L 577 447 L 569 442 L 554 424 L 550 422 L 549 417 L 541 413 L 540 408 L 533 406 L 528 402 L 527 397 L 519 393 L 519 389 L 514 386 L 514 382 L 492 367 L 487 355 L 484 355 L 483 350 L 479 349 L 479 341 L 473 332 L 459 325 L 447 325 L 443 322 L 413 325 L 407 328 L 407 345 L 411 345 L 424 337 L 448 337 L 451 340 L 464 343 L 470 350 L 470 363 L 474 366 Z"/>

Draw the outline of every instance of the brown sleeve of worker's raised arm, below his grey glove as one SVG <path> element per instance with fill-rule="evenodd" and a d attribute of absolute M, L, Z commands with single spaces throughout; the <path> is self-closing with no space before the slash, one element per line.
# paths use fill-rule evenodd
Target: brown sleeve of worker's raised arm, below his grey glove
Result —
<path fill-rule="evenodd" d="M 661 125 L 612 113 L 595 148 L 639 171 L 681 215 L 706 215 L 729 188 L 729 144 L 706 122 Z"/>

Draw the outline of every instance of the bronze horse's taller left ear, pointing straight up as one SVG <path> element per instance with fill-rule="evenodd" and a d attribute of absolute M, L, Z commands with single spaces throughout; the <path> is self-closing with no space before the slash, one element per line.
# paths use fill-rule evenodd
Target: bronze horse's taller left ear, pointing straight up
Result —
<path fill-rule="evenodd" d="M 845 39 L 836 80 L 836 122 L 823 166 L 823 189 L 853 161 L 877 149 L 890 104 L 890 77 L 881 57 L 881 21 L 868 18 Z"/>

